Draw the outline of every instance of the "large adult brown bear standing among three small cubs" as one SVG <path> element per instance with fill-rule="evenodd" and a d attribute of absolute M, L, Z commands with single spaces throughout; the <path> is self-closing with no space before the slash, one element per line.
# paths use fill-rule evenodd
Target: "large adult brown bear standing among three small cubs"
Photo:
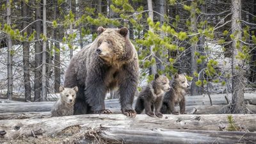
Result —
<path fill-rule="evenodd" d="M 139 79 L 138 54 L 127 35 L 128 29 L 98 28 L 99 36 L 70 60 L 64 86 L 78 86 L 74 115 L 111 113 L 105 109 L 106 93 L 118 88 L 121 111 L 136 116 L 132 109 Z"/>

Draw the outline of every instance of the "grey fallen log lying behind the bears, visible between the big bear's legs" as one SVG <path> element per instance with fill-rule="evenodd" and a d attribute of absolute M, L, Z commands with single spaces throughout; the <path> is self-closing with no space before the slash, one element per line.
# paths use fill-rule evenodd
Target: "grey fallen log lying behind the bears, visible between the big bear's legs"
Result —
<path fill-rule="evenodd" d="M 46 103 L 46 104 L 45 104 Z M 256 113 L 256 105 L 246 105 L 250 113 Z M 0 120 L 4 119 L 24 119 L 24 118 L 44 118 L 51 115 L 49 112 L 52 104 L 47 102 L 31 102 L 19 105 L 6 105 L 0 104 Z M 119 104 L 106 104 L 106 108 L 111 110 L 114 114 L 121 114 Z M 179 106 L 176 107 L 179 109 Z M 195 111 L 196 109 L 196 111 Z M 186 113 L 188 114 L 222 114 L 228 111 L 228 105 L 214 105 L 214 106 L 186 106 Z M 195 111 L 195 113 L 193 113 Z"/>

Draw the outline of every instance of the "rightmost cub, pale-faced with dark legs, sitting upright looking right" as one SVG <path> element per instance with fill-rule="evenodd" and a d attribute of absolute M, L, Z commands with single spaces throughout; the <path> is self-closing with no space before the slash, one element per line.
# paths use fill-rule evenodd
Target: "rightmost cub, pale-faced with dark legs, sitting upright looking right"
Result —
<path fill-rule="evenodd" d="M 175 105 L 179 104 L 180 114 L 185 113 L 186 101 L 184 95 L 189 84 L 183 74 L 176 74 L 172 83 L 171 89 L 165 93 L 161 113 L 179 114 L 175 111 Z"/>

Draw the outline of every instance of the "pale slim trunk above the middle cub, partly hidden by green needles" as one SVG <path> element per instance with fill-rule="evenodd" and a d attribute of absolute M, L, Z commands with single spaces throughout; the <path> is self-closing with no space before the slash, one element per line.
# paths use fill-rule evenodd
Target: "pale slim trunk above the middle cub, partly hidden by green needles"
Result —
<path fill-rule="evenodd" d="M 152 20 L 152 22 L 154 22 L 154 13 L 153 13 L 153 7 L 152 7 L 152 0 L 147 0 L 148 2 L 148 18 Z M 151 26 L 149 26 L 148 31 L 151 31 L 152 33 L 154 33 L 154 29 L 151 28 Z M 153 51 L 154 49 L 154 45 L 150 46 L 150 54 L 151 54 L 151 58 L 155 58 L 156 59 L 156 55 L 155 52 Z M 156 63 L 152 63 L 151 67 L 151 74 L 155 75 L 157 74 L 157 67 L 156 67 Z"/>

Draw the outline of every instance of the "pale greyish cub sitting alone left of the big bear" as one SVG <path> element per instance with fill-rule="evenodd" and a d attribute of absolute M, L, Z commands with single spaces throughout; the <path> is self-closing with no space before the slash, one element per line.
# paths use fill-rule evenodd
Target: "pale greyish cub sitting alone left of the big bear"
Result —
<path fill-rule="evenodd" d="M 52 107 L 52 116 L 73 115 L 76 92 L 78 92 L 77 86 L 74 88 L 60 86 L 60 99 Z"/>

